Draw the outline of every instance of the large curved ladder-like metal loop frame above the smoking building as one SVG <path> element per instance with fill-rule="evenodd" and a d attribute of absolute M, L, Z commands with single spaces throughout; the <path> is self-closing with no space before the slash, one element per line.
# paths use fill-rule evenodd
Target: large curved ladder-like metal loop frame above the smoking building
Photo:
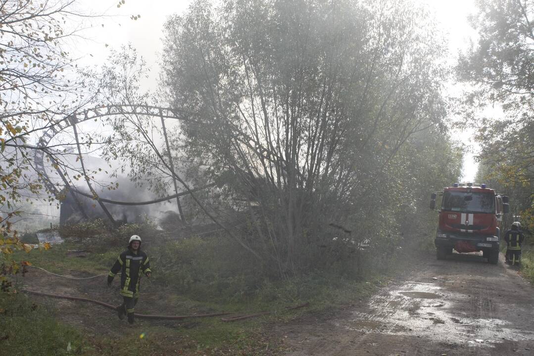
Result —
<path fill-rule="evenodd" d="M 38 175 L 41 178 L 43 178 L 44 186 L 46 187 L 46 189 L 48 189 L 49 192 L 52 192 L 54 196 L 56 196 L 56 198 L 60 195 L 60 192 L 58 191 L 56 185 L 52 183 L 50 177 L 48 176 L 48 173 L 46 172 L 46 168 L 44 165 L 45 154 L 50 157 L 52 164 L 57 165 L 57 161 L 54 159 L 54 157 L 50 153 L 45 153 L 46 146 L 50 143 L 52 138 L 56 136 L 58 133 L 60 133 L 61 131 L 67 129 L 69 126 L 74 126 L 77 123 L 81 123 L 81 122 L 95 119 L 98 117 L 121 115 L 121 114 L 147 115 L 147 116 L 154 116 L 154 117 L 158 116 L 161 118 L 162 121 L 164 120 L 164 118 L 174 118 L 175 120 L 185 120 L 184 118 L 180 117 L 177 114 L 177 110 L 171 109 L 171 108 L 152 106 L 152 105 L 116 104 L 116 105 L 105 105 L 105 106 L 83 110 L 82 112 L 74 113 L 72 115 L 65 117 L 63 120 L 57 123 L 54 123 L 43 133 L 43 136 L 41 136 L 41 138 L 39 139 L 37 143 L 38 149 L 36 150 L 35 155 L 34 155 L 34 164 L 35 164 L 35 169 Z M 167 136 L 166 133 L 165 133 L 165 136 Z M 61 177 L 61 179 L 64 181 L 65 186 L 69 188 L 69 191 L 73 194 L 73 197 L 76 202 L 78 202 L 78 200 L 76 199 L 76 194 L 91 197 L 89 194 L 78 192 L 76 188 L 70 186 L 68 180 L 66 179 L 63 172 L 61 172 L 61 169 L 59 167 L 57 167 L 56 170 L 58 171 L 58 174 Z M 202 188 L 207 188 L 210 186 L 213 186 L 213 185 L 201 187 L 201 188 L 195 189 L 195 191 L 202 189 Z M 169 195 L 169 196 L 166 196 L 160 199 L 155 199 L 149 202 L 115 202 L 115 201 L 111 201 L 107 199 L 101 200 L 101 201 L 105 201 L 111 204 L 119 204 L 119 205 L 145 205 L 145 204 L 150 204 L 150 203 L 157 203 L 161 201 L 171 200 L 174 198 L 178 199 L 179 196 L 186 195 L 186 194 L 187 193 L 178 194 L 176 192 L 176 194 Z M 95 199 L 95 197 L 92 197 L 92 198 Z M 96 200 L 100 200 L 100 199 L 97 197 Z M 78 205 L 80 204 L 78 203 Z M 82 210 L 82 213 L 84 213 L 83 209 L 81 210 Z"/>

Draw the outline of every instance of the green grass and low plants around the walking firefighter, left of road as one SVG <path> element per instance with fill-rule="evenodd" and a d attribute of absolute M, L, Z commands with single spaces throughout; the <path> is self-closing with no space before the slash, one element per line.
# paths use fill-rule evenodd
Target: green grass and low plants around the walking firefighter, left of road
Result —
<path fill-rule="evenodd" d="M 251 265 L 247 266 L 246 260 L 240 260 L 239 245 L 224 239 L 221 234 L 169 242 L 161 241 L 168 236 L 151 225 L 123 226 L 119 231 L 131 228 L 147 234 L 143 247 L 146 247 L 154 271 L 153 279 L 143 282 L 142 296 L 136 308 L 138 312 L 154 311 L 150 301 L 164 299 L 169 305 L 153 313 L 189 315 L 225 311 L 249 314 L 271 311 L 273 314 L 239 322 L 222 322 L 220 317 L 175 323 L 138 320 L 135 327 L 123 325 L 119 336 L 112 337 L 105 330 L 109 321 L 116 319 L 113 311 L 76 302 L 73 313 L 58 305 L 57 299 L 32 297 L 21 292 L 22 288 L 35 289 L 34 278 L 44 278 L 46 283 L 62 280 L 28 266 L 25 268 L 31 275 L 23 276 L 21 271 L 15 275 L 11 291 L 0 292 L 3 350 L 14 355 L 165 355 L 174 353 L 174 350 L 184 355 L 278 355 L 286 348 L 283 335 L 272 332 L 274 325 L 358 303 L 387 283 L 395 275 L 395 270 L 405 264 L 403 257 L 406 254 L 398 249 L 378 265 L 366 264 L 365 278 L 335 270 L 316 270 L 300 278 L 270 280 L 250 268 Z M 83 238 L 72 234 L 80 229 L 84 232 Z M 46 251 L 17 252 L 12 257 L 58 274 L 105 274 L 127 240 L 116 230 L 107 230 L 101 220 L 59 228 L 58 231 L 65 239 L 64 243 Z M 84 257 L 75 257 L 72 251 L 78 254 L 83 251 Z M 380 251 L 376 254 L 368 252 L 373 258 L 384 255 Z M 97 279 L 91 288 L 107 288 L 105 279 L 105 276 Z M 88 291 L 89 295 L 82 294 L 81 290 L 76 293 L 77 296 L 91 297 L 91 290 Z M 118 290 L 113 288 L 108 292 L 118 304 Z M 309 303 L 309 306 L 285 309 L 303 303 Z M 90 330 L 86 325 L 88 318 L 101 323 L 100 333 Z M 28 321 L 32 322 L 30 328 L 27 327 Z M 146 336 L 140 338 L 142 333 Z M 47 347 L 42 348 L 43 344 Z"/>

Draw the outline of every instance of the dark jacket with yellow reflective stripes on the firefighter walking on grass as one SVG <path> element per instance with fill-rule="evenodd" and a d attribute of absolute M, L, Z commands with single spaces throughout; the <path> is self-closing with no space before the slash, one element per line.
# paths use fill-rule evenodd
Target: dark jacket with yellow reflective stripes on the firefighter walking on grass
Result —
<path fill-rule="evenodd" d="M 136 252 L 131 249 L 122 252 L 111 267 L 108 279 L 113 279 L 119 271 L 121 272 L 121 296 L 130 298 L 139 297 L 141 273 L 152 273 L 148 256 L 140 249 Z"/>

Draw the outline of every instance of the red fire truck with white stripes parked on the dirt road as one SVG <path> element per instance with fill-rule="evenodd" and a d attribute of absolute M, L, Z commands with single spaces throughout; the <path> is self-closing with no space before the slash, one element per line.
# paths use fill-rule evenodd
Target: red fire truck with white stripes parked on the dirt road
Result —
<path fill-rule="evenodd" d="M 436 199 L 441 207 L 436 210 Z M 430 209 L 439 213 L 436 257 L 445 259 L 457 252 L 482 251 L 491 264 L 499 260 L 500 224 L 509 211 L 508 197 L 485 184 L 454 183 L 443 192 L 432 193 Z"/>

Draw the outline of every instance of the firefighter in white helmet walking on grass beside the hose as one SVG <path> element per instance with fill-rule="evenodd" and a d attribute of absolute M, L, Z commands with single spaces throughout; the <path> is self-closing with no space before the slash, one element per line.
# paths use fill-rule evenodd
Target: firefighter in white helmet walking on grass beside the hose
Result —
<path fill-rule="evenodd" d="M 141 275 L 144 273 L 148 278 L 152 271 L 148 256 L 141 250 L 141 238 L 138 235 L 132 235 L 128 242 L 128 249 L 119 255 L 111 271 L 107 276 L 107 284 L 111 286 L 115 274 L 121 272 L 121 296 L 123 303 L 117 307 L 119 319 L 124 319 L 128 315 L 128 322 L 132 324 L 135 321 L 133 307 L 137 304 L 139 298 L 139 282 Z"/>

